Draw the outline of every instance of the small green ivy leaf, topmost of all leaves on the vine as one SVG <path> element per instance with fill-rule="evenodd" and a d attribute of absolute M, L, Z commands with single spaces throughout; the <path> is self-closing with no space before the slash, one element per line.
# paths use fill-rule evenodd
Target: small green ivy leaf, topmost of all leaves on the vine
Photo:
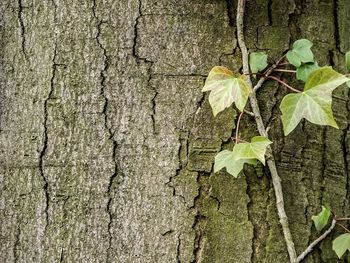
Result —
<path fill-rule="evenodd" d="M 293 49 L 287 52 L 287 59 L 290 64 L 296 68 L 301 66 L 301 63 L 314 61 L 314 54 L 311 51 L 312 42 L 307 39 L 299 39 L 294 42 Z"/>

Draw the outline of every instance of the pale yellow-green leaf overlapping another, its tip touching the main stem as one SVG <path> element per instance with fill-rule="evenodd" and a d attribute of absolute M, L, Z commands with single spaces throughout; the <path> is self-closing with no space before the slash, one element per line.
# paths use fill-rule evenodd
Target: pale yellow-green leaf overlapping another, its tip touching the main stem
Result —
<path fill-rule="evenodd" d="M 234 147 L 238 159 L 258 159 L 265 165 L 266 147 L 272 142 L 266 137 L 256 136 L 250 143 L 239 143 Z"/>

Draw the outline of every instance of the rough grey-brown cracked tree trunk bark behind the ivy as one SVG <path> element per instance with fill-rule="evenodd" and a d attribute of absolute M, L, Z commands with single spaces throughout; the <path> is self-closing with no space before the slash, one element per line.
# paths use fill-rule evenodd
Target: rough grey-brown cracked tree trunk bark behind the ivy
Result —
<path fill-rule="evenodd" d="M 236 112 L 214 119 L 201 87 L 213 66 L 241 67 L 234 2 L 1 1 L 1 262 L 288 262 L 264 167 L 212 173 Z M 281 2 L 248 1 L 248 48 L 272 62 L 305 37 L 343 69 L 350 1 Z M 350 105 L 337 89 L 339 130 L 285 138 L 285 93 L 267 82 L 258 98 L 300 253 L 321 205 L 350 214 Z M 329 237 L 305 262 L 347 260 Z"/>

